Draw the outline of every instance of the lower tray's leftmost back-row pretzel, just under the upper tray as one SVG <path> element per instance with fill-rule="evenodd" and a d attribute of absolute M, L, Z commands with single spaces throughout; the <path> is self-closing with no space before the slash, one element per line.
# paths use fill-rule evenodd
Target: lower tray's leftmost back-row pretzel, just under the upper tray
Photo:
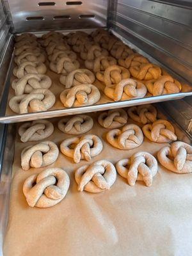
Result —
<path fill-rule="evenodd" d="M 54 127 L 48 120 L 34 120 L 26 122 L 19 127 L 22 142 L 44 140 L 51 136 Z"/>

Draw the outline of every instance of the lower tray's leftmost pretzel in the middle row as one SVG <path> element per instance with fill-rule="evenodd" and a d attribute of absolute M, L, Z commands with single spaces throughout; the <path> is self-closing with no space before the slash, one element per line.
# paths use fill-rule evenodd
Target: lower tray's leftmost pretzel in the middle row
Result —
<path fill-rule="evenodd" d="M 56 161 L 58 155 L 58 146 L 52 141 L 42 141 L 26 147 L 21 152 L 22 169 L 29 170 L 30 167 L 40 168 L 50 165 Z"/>

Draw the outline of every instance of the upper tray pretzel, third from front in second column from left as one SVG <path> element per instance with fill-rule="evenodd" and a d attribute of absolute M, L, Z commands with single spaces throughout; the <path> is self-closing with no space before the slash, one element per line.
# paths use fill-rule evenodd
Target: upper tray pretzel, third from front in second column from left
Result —
<path fill-rule="evenodd" d="M 71 71 L 79 68 L 79 61 L 70 60 L 68 57 L 62 57 L 58 61 L 51 61 L 49 67 L 57 74 L 68 74 Z"/>

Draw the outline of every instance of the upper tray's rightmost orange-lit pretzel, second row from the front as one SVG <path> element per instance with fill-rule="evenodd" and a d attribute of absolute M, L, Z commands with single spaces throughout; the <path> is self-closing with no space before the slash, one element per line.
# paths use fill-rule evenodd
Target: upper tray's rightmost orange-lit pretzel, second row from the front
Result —
<path fill-rule="evenodd" d="M 161 76 L 161 68 L 152 63 L 141 64 L 129 68 L 131 76 L 138 80 L 158 79 Z"/>

